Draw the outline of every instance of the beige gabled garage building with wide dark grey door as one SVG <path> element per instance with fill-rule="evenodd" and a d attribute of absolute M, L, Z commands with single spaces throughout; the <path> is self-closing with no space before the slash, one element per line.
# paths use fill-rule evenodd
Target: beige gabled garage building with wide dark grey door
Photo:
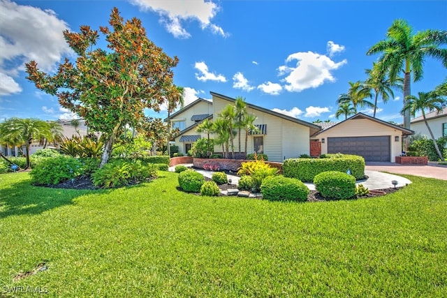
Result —
<path fill-rule="evenodd" d="M 395 163 L 395 156 L 402 154 L 402 137 L 414 133 L 362 113 L 337 124 L 320 125 L 322 131 L 313 135 L 312 140 L 321 142 L 321 154 L 356 154 L 365 161 Z"/>

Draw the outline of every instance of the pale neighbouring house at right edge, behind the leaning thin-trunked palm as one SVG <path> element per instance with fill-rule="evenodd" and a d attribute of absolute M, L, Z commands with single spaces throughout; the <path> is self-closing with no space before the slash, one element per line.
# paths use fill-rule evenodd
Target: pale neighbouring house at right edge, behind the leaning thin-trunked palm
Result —
<path fill-rule="evenodd" d="M 425 114 L 427 123 L 433 132 L 434 138 L 447 137 L 447 107 L 444 107 L 441 113 L 436 111 Z M 431 138 L 422 116 L 411 120 L 411 130 L 417 135 L 426 135 Z"/>

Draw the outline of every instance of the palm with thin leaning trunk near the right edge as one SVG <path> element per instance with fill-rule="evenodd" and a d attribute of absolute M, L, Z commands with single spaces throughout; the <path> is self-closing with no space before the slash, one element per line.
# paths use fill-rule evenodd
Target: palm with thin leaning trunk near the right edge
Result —
<path fill-rule="evenodd" d="M 436 110 L 437 113 L 439 114 L 446 106 L 447 106 L 447 100 L 444 99 L 439 94 L 437 94 L 436 91 L 432 91 L 428 93 L 418 92 L 418 97 L 411 95 L 407 96 L 407 98 L 405 98 L 404 100 L 404 108 L 402 109 L 402 114 L 404 114 L 404 112 L 409 112 L 413 117 L 416 115 L 416 112 L 418 111 L 422 112 L 422 117 L 424 119 L 425 126 L 427 126 L 428 132 L 430 133 L 430 137 L 432 137 L 434 143 L 434 148 L 436 149 L 439 158 L 441 158 L 441 161 L 444 161 L 444 157 L 442 156 L 441 151 L 439 150 L 432 129 L 428 125 L 427 119 L 425 118 L 425 110 L 428 110 L 430 112 Z"/>

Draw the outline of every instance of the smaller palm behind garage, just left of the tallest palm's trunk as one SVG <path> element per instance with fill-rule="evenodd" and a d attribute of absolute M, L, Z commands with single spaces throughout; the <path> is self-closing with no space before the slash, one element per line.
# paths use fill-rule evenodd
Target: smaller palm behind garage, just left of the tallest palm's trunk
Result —
<path fill-rule="evenodd" d="M 381 64 L 376 62 L 373 62 L 372 69 L 366 69 L 365 73 L 369 75 L 365 84 L 367 87 L 373 89 L 375 94 L 374 113 L 372 114 L 372 117 L 376 118 L 377 98 L 379 95 L 381 96 L 383 103 L 386 103 L 388 99 L 394 98 L 393 88 L 402 89 L 404 80 L 402 77 L 396 77 L 395 81 L 390 80 L 390 78 L 386 76 L 386 73 L 383 72 Z"/>

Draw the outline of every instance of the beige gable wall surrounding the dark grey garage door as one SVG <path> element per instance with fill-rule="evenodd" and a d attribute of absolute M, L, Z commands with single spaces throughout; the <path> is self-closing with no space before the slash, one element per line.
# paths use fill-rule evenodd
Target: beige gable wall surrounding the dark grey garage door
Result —
<path fill-rule="evenodd" d="M 400 156 L 400 154 L 402 154 L 402 131 L 369 119 L 351 119 L 344 121 L 337 124 L 337 126 L 328 129 L 328 131 L 324 131 L 316 137 L 312 137 L 312 139 L 320 141 L 325 139 L 325 142 L 321 144 L 321 154 L 327 154 L 328 137 L 378 137 L 382 135 L 387 135 L 391 138 L 390 161 L 395 163 L 395 156 Z M 395 142 L 395 136 L 399 137 L 399 142 Z"/>

